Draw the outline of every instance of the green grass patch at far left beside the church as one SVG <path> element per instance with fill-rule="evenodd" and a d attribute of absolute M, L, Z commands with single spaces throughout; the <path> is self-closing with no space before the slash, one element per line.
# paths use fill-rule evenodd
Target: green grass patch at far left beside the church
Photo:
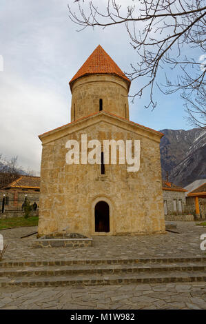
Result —
<path fill-rule="evenodd" d="M 11 219 L 0 219 L 0 230 L 6 230 L 10 227 L 37 226 L 38 216 L 31 216 L 28 219 L 24 217 L 12 217 Z"/>

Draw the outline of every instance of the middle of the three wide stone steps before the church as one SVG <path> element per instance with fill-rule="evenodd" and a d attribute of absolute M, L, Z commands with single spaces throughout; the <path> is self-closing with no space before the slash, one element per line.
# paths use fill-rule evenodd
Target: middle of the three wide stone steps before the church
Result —
<path fill-rule="evenodd" d="M 201 263 L 169 263 L 169 264 L 112 264 L 112 265 L 50 265 L 40 267 L 0 268 L 1 277 L 17 276 L 64 276 L 72 274 L 132 274 L 154 272 L 196 272 L 205 271 L 206 261 Z"/>

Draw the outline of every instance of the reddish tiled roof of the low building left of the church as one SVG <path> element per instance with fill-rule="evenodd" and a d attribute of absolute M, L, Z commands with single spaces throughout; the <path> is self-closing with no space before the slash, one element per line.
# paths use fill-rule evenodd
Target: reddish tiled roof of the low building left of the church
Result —
<path fill-rule="evenodd" d="M 6 188 L 29 188 L 39 189 L 40 188 L 40 176 L 24 176 L 21 175 L 19 179 L 6 185 Z"/>

